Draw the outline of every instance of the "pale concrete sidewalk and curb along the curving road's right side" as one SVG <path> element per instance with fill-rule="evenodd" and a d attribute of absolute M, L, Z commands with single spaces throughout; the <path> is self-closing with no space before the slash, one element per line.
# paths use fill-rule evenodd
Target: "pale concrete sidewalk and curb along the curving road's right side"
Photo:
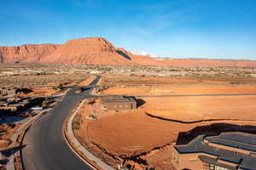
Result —
<path fill-rule="evenodd" d="M 73 113 L 68 117 L 68 121 L 67 121 L 67 126 L 65 124 L 65 128 L 67 131 L 65 131 L 63 129 L 64 132 L 64 136 L 67 142 L 67 145 L 69 148 L 71 148 L 71 150 L 73 150 L 73 152 L 79 156 L 79 158 L 84 161 L 87 165 L 89 165 L 91 168 L 93 168 L 94 170 L 97 170 L 97 167 L 100 167 L 102 169 L 106 169 L 106 170 L 115 170 L 113 167 L 110 167 L 107 163 L 103 162 L 102 160 L 100 160 L 99 158 L 97 158 L 96 156 L 94 156 L 93 154 L 90 153 L 89 150 L 87 150 L 86 148 L 84 148 L 84 145 L 81 144 L 79 142 L 78 139 L 76 139 L 74 133 L 73 133 L 73 128 L 72 128 L 72 122 L 74 117 L 77 115 L 77 113 L 79 112 L 79 109 L 82 107 L 82 105 L 84 105 L 84 101 L 83 100 L 80 104 L 79 107 L 76 109 L 76 111 L 73 111 Z M 68 136 L 68 139 L 67 139 Z M 69 140 L 71 140 L 71 142 L 73 144 L 70 144 Z M 73 147 L 74 145 L 74 147 Z M 94 166 L 92 163 L 90 163 L 89 161 L 85 160 L 83 156 L 79 155 L 79 152 L 83 154 L 83 156 L 85 156 L 88 160 L 94 162 L 96 164 L 96 166 Z"/>

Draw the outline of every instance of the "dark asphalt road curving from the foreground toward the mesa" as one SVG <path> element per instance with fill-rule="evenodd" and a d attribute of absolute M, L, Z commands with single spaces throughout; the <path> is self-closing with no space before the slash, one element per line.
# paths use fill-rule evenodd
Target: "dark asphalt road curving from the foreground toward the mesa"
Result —
<path fill-rule="evenodd" d="M 94 86 L 99 79 L 96 77 L 90 86 Z M 72 88 L 53 110 L 32 125 L 23 141 L 25 170 L 90 169 L 68 148 L 62 135 L 62 123 L 70 111 L 79 101 L 90 97 L 90 88 L 82 94 L 75 94 L 75 88 Z"/>

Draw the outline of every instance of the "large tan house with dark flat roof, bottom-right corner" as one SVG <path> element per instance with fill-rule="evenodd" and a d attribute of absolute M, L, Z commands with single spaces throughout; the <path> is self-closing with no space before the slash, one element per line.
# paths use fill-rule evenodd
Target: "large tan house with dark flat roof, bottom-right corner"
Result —
<path fill-rule="evenodd" d="M 199 135 L 189 144 L 173 145 L 172 165 L 177 170 L 255 170 L 256 135 Z"/>

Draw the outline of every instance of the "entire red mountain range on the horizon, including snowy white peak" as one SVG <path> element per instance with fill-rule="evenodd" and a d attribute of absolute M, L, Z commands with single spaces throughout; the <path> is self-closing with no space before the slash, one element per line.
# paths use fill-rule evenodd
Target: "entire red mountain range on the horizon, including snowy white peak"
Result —
<path fill-rule="evenodd" d="M 112 43 L 102 37 L 73 39 L 65 44 L 0 47 L 0 62 L 256 67 L 256 61 L 253 60 L 167 59 L 160 55 L 148 54 L 143 50 L 128 52 L 124 48 L 115 48 Z"/>

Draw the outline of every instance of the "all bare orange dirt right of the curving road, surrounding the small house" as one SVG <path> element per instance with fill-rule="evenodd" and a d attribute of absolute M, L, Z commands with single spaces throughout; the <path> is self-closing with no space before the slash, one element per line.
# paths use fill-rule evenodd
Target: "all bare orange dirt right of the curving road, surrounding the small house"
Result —
<path fill-rule="evenodd" d="M 123 82 L 122 78 L 127 82 Z M 101 92 L 101 94 L 141 95 L 139 99 L 143 102 L 140 102 L 137 110 L 102 111 L 96 100 L 84 105 L 80 111 L 83 118 L 81 128 L 75 131 L 76 136 L 96 156 L 102 157 L 113 167 L 125 160 L 137 169 L 153 167 L 157 170 L 170 170 L 173 169 L 170 160 L 172 144 L 175 142 L 186 144 L 199 134 L 230 131 L 256 133 L 254 115 L 256 95 L 189 96 L 191 94 L 256 94 L 256 86 L 253 82 L 233 83 L 233 79 L 198 81 L 183 77 L 162 79 L 151 77 L 145 81 L 143 78 L 109 76 L 102 80 L 102 84 L 105 85 L 128 83 L 145 85 L 147 81 L 150 85 L 157 85 L 119 86 Z M 156 78 L 155 82 L 154 78 Z M 143 97 L 143 95 L 152 96 Z M 188 96 L 154 97 L 154 95 Z M 86 118 L 91 115 L 96 115 L 96 120 Z"/>

